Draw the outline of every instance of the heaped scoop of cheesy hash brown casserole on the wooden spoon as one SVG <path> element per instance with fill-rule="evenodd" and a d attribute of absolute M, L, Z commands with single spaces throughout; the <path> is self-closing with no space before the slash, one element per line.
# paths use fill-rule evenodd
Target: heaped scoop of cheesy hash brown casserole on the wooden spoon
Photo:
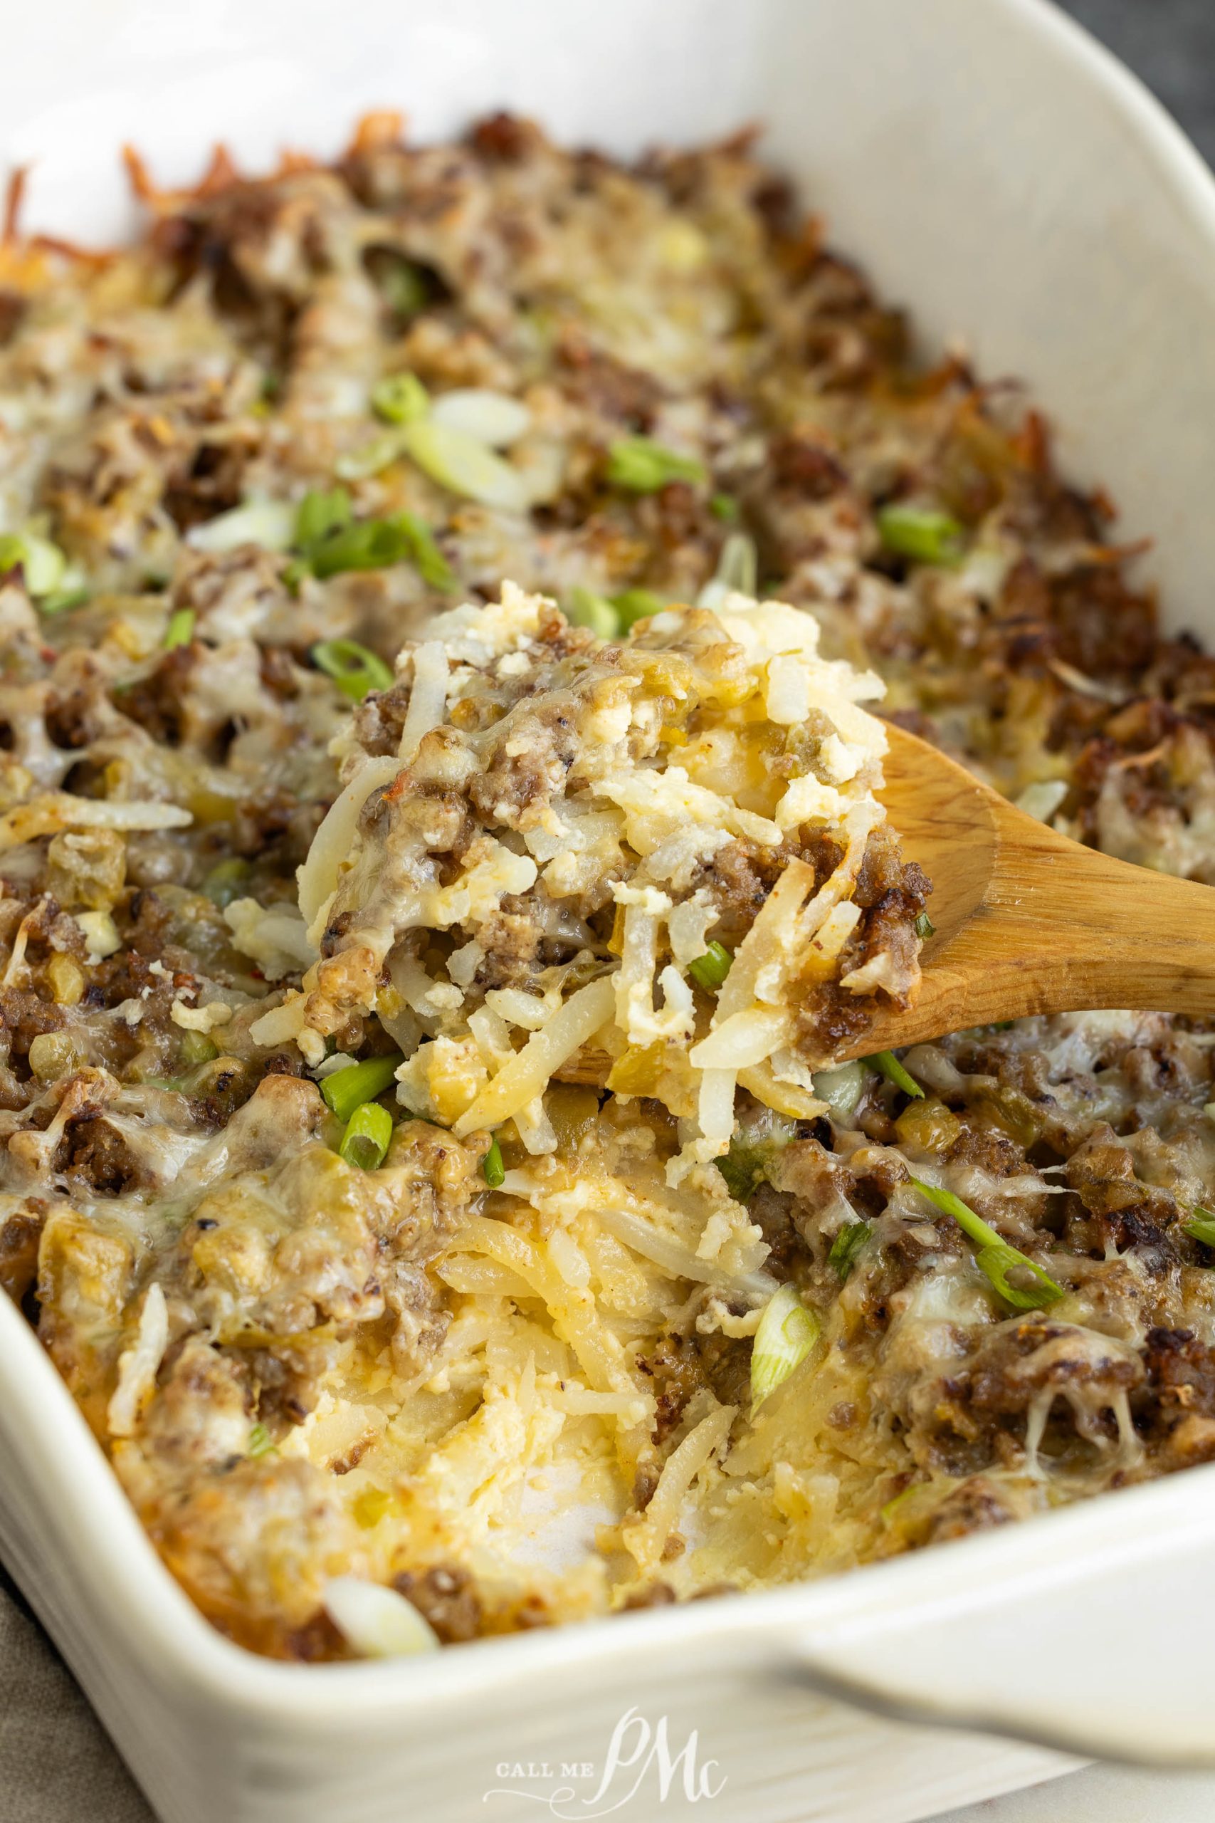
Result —
<path fill-rule="evenodd" d="M 740 594 L 625 645 L 510 583 L 439 616 L 335 742 L 342 791 L 299 875 L 321 959 L 264 1017 L 321 1065 L 375 1014 L 412 1114 L 459 1138 L 512 1119 L 532 1154 L 557 1145 L 550 1079 L 596 1041 L 608 1088 L 689 1121 L 676 1174 L 729 1148 L 740 1076 L 822 1114 L 807 1065 L 867 997 L 918 984 L 925 882 L 898 866 L 873 795 L 885 733 L 856 706 L 880 691 L 818 656 L 811 616 Z M 878 851 L 883 917 L 854 897 Z M 758 913 L 741 866 L 774 882 Z M 226 915 L 253 955 L 281 919 L 251 899 Z M 696 966 L 721 939 L 709 992 Z"/>

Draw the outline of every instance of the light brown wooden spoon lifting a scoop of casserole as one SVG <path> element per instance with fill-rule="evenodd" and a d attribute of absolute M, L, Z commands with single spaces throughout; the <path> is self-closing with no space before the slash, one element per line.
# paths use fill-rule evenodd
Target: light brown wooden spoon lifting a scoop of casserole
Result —
<path fill-rule="evenodd" d="M 840 1061 L 1027 1014 L 1215 1014 L 1215 891 L 1057 835 L 889 726 L 882 791 L 933 882 L 914 1006 L 878 1010 Z"/>

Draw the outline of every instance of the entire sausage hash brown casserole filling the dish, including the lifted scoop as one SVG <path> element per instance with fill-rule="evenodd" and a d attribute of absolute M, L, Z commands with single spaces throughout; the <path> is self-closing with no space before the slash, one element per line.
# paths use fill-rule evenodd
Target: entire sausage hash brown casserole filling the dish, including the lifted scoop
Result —
<path fill-rule="evenodd" d="M 0 1282 L 202 1612 L 417 1650 L 1215 1457 L 1215 1032 L 825 1066 L 931 924 L 880 687 L 1215 882 L 1215 664 L 1042 419 L 745 139 L 137 179 L 0 246 Z"/>

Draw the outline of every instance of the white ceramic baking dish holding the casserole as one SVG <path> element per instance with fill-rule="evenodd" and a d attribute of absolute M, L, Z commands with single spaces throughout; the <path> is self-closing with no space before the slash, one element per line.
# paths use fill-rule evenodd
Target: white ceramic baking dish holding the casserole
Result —
<path fill-rule="evenodd" d="M 1029 381 L 1064 467 L 1111 489 L 1128 534 L 1159 536 L 1168 618 L 1215 638 L 1215 184 L 1046 0 L 346 0 L 341 16 L 319 0 L 206 16 L 4 4 L 4 149 L 36 160 L 26 219 L 82 241 L 124 230 L 126 137 L 173 180 L 217 137 L 250 162 L 282 142 L 333 149 L 377 104 L 404 106 L 419 137 L 506 104 L 618 151 L 763 120 L 769 155 L 927 337 L 964 334 L 985 374 Z M 1200 1675 L 1213 1546 L 1208 1468 L 765 1597 L 401 1664 L 271 1664 L 213 1633 L 160 1568 L 0 1302 L 0 1555 L 168 1823 L 455 1823 L 537 1803 L 648 1818 L 705 1801 L 716 1823 L 900 1823 L 1075 1765 L 822 1692 L 1215 1765 Z M 607 1777 L 630 1712 L 628 1765 Z M 672 1759 L 696 1730 L 665 1792 L 647 1759 L 663 1717 Z"/>

